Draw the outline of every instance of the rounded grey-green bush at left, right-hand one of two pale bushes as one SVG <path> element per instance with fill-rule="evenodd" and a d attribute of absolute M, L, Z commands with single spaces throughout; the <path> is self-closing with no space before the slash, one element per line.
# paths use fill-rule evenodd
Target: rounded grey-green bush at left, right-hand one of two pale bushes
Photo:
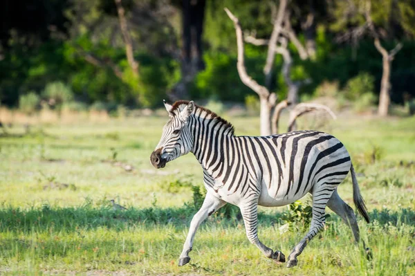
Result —
<path fill-rule="evenodd" d="M 46 84 L 42 96 L 48 100 L 50 107 L 62 109 L 62 105 L 73 100 L 71 87 L 63 82 L 51 82 Z"/>

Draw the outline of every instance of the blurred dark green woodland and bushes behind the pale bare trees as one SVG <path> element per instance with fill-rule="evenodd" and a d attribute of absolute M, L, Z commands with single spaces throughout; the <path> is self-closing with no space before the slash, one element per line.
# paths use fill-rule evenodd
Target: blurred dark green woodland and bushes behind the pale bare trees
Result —
<path fill-rule="evenodd" d="M 391 103 L 414 113 L 414 1 L 372 2 L 371 20 L 382 47 L 390 52 L 402 46 L 390 62 Z M 282 37 L 288 38 L 289 76 L 302 84 L 303 102 L 329 95 L 340 107 L 349 101 L 358 111 L 378 104 L 382 54 L 365 3 L 286 4 L 283 17 L 295 39 L 283 32 Z M 237 73 L 234 26 L 223 8 L 239 17 L 246 37 L 262 40 L 270 38 L 279 17 L 279 1 L 269 0 L 6 0 L 0 5 L 1 107 L 24 113 L 94 110 L 118 116 L 162 107 L 164 98 L 255 107 L 255 93 Z M 279 100 L 287 98 L 283 56 L 275 54 L 265 80 L 268 45 L 245 48 L 248 75 L 266 83 Z"/>

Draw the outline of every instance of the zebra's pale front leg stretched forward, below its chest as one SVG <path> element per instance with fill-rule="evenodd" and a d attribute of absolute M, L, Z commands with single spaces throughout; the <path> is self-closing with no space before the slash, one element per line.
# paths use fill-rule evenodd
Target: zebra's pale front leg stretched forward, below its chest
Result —
<path fill-rule="evenodd" d="M 189 252 L 192 251 L 194 234 L 196 234 L 197 228 L 199 228 L 201 223 L 206 218 L 216 212 L 219 208 L 223 207 L 225 204 L 225 201 L 216 198 L 210 194 L 210 192 L 206 194 L 202 207 L 196 214 L 194 214 L 192 222 L 190 223 L 189 233 L 187 234 L 185 244 L 183 245 L 183 251 L 181 252 L 178 266 L 184 266 L 190 261 Z"/>

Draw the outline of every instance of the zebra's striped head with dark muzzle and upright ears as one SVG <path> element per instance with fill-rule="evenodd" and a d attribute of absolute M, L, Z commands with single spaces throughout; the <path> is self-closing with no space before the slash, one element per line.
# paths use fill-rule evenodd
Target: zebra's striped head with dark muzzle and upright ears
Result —
<path fill-rule="evenodd" d="M 150 156 L 151 165 L 160 169 L 179 156 L 188 154 L 193 146 L 189 118 L 195 107 L 194 102 L 178 102 L 172 106 L 163 101 L 170 120 L 163 127 L 163 134 L 156 149 Z"/>

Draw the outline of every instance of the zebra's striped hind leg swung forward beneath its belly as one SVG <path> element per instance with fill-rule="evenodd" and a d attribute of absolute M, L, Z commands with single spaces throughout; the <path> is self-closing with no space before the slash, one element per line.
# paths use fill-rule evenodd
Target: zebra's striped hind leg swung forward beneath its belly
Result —
<path fill-rule="evenodd" d="M 307 243 L 315 237 L 315 235 L 324 228 L 326 222 L 326 204 L 329 201 L 334 189 L 324 189 L 313 191 L 313 219 L 311 219 L 310 230 L 306 236 L 295 246 L 291 254 L 288 256 L 287 267 L 297 266 L 297 257 L 300 255 Z"/>

